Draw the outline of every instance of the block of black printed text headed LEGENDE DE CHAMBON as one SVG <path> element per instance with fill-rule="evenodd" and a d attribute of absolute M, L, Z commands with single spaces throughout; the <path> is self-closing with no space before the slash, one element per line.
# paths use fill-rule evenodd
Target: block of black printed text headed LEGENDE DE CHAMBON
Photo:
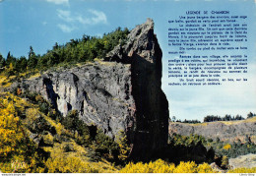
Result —
<path fill-rule="evenodd" d="M 168 86 L 247 82 L 248 17 L 186 11 L 168 20 Z"/>

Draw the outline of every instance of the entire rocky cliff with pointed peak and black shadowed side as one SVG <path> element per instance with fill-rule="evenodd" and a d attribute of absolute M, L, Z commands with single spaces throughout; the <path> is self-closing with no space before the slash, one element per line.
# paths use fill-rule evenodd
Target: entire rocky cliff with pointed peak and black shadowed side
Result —
<path fill-rule="evenodd" d="M 112 138 L 125 131 L 131 157 L 147 159 L 167 143 L 168 102 L 160 80 L 161 49 L 148 19 L 104 61 L 48 71 L 20 87 L 40 93 L 64 116 L 77 109 Z"/>

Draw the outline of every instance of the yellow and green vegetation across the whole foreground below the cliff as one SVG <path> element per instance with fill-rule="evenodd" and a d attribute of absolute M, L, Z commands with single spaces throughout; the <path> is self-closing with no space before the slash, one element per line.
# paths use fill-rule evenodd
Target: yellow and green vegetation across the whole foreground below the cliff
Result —
<path fill-rule="evenodd" d="M 171 162 L 158 159 L 125 165 L 130 147 L 123 132 L 116 136 L 114 142 L 96 126 L 83 123 L 76 110 L 64 118 L 39 94 L 19 89 L 16 92 L 18 96 L 7 92 L 0 94 L 2 172 L 213 173 L 217 171 L 208 163 L 219 162 L 223 169 L 228 169 L 227 158 L 232 150 L 255 149 L 249 138 L 246 144 L 234 147 L 233 144 L 197 135 L 174 135 L 169 139 L 170 148 L 163 151 L 167 155 L 166 160 Z M 253 172 L 255 168 L 229 170 L 245 171 Z"/>

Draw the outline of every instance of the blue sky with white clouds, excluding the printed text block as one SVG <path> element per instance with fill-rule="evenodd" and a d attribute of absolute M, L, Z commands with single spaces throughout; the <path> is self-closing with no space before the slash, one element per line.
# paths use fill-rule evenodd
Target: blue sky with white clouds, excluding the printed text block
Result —
<path fill-rule="evenodd" d="M 249 69 L 246 83 L 219 87 L 170 87 L 167 61 L 177 50 L 167 45 L 168 20 L 188 10 L 229 10 L 248 16 Z M 256 4 L 254 0 L 0 0 L 0 53 L 26 56 L 32 46 L 36 54 L 64 44 L 83 34 L 101 36 L 118 27 L 133 29 L 152 18 L 162 49 L 162 89 L 169 102 L 169 116 L 203 120 L 206 115 L 256 113 Z M 220 51 L 220 54 L 226 54 Z M 193 52 L 187 52 L 193 55 Z M 236 75 L 235 77 L 241 77 Z"/>

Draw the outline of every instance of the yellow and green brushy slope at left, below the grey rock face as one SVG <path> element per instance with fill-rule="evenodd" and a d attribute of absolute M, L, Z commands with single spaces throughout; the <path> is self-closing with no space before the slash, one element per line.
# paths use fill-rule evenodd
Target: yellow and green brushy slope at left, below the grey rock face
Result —
<path fill-rule="evenodd" d="M 114 142 L 76 110 L 63 118 L 40 95 L 20 96 L 29 99 L 0 96 L 2 172 L 115 172 L 126 162 L 125 136 Z"/>

